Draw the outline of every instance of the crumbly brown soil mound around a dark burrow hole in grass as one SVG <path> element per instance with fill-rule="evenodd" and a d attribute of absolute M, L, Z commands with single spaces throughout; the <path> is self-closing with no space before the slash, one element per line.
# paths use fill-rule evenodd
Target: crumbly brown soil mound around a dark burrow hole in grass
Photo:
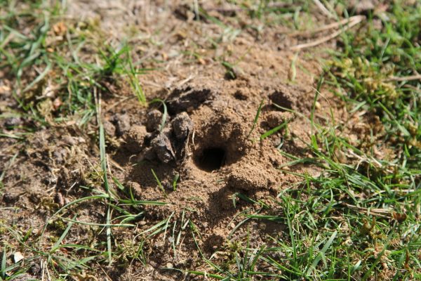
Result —
<path fill-rule="evenodd" d="M 194 210 L 192 217 L 204 222 L 199 227 L 211 234 L 238 211 L 232 204 L 237 192 L 275 194 L 291 181 L 293 176 L 279 169 L 288 160 L 278 149 L 288 142 L 286 130 L 295 115 L 281 107 L 308 110 L 308 105 L 298 103 L 297 86 L 276 81 L 266 87 L 242 79 L 203 81 L 192 79 L 168 91 L 162 97 L 166 109 L 156 103 L 144 115 L 128 112 L 131 129 L 114 160 L 126 171 L 121 182 L 133 188 L 136 199 L 171 202 L 149 209 L 149 215 Z"/>

